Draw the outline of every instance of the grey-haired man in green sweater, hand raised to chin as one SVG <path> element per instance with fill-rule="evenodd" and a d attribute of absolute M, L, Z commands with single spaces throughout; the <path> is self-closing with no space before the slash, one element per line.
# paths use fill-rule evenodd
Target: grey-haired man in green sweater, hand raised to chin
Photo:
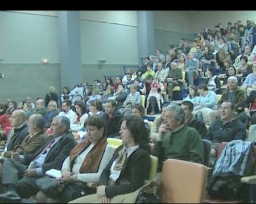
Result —
<path fill-rule="evenodd" d="M 176 104 L 168 105 L 163 118 L 164 122 L 159 127 L 159 139 L 152 151 L 152 155 L 159 159 L 158 172 L 162 171 L 166 159 L 203 163 L 203 142 L 196 129 L 184 125 L 184 109 Z"/>

